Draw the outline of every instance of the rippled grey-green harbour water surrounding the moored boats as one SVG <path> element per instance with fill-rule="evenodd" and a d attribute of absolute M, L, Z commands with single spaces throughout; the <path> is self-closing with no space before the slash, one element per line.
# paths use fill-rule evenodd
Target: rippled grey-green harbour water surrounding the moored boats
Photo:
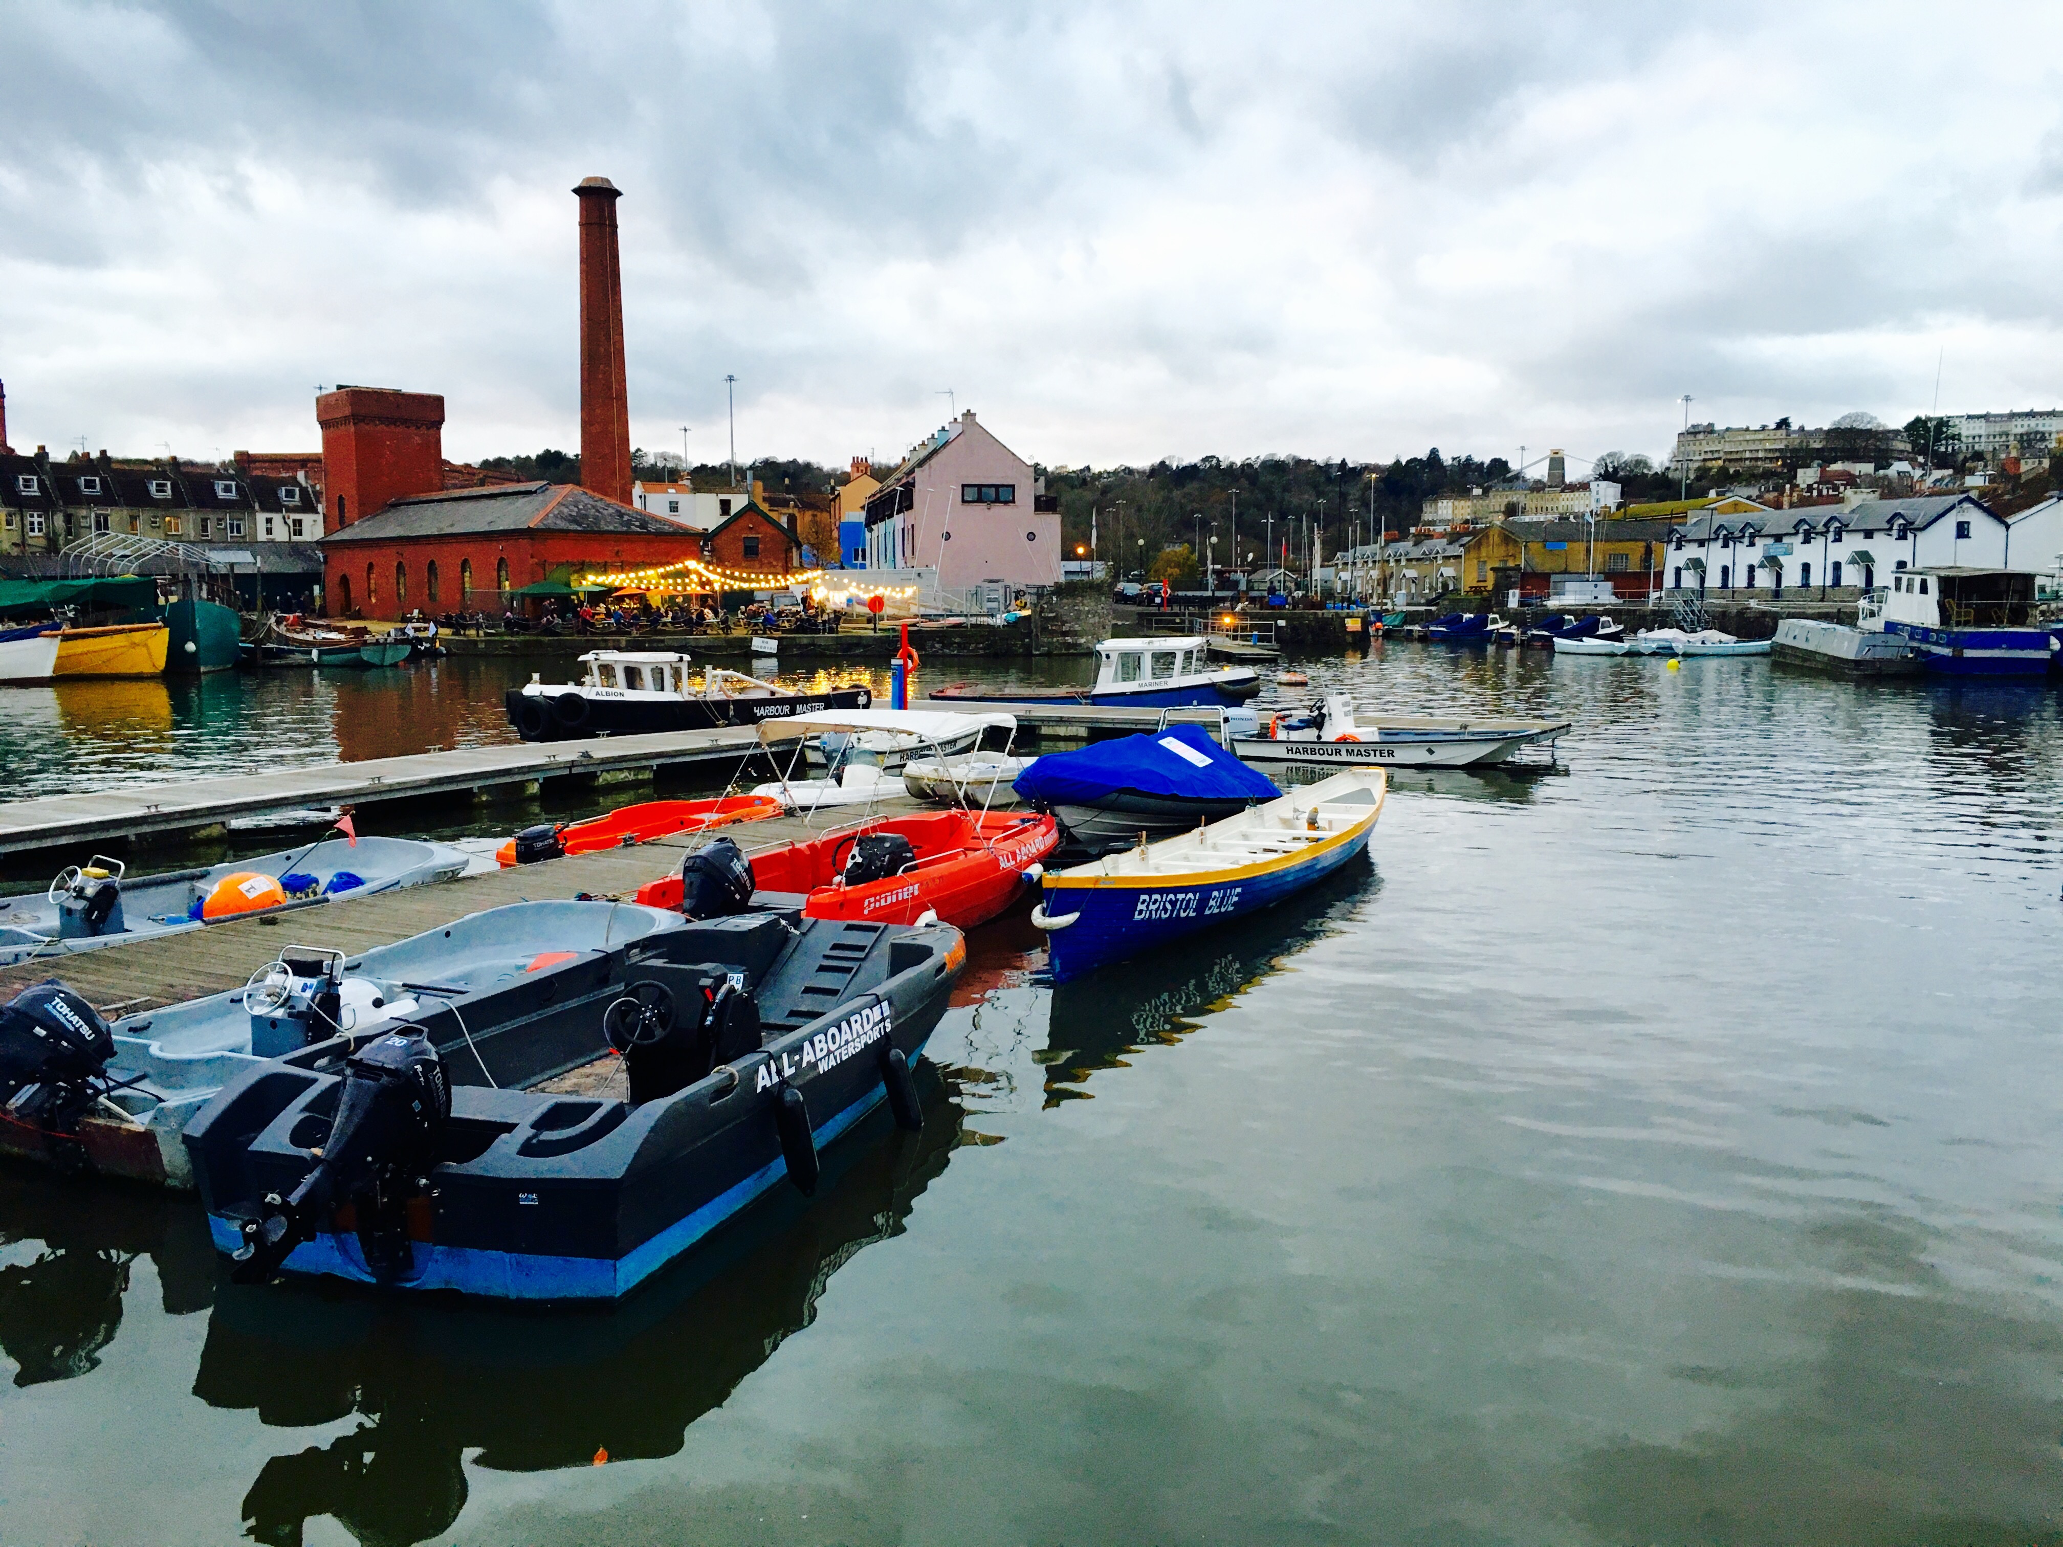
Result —
<path fill-rule="evenodd" d="M 505 734 L 437 670 L 0 759 Z M 2063 1541 L 2051 689 L 1304 670 L 1576 730 L 1180 955 L 1056 992 L 978 932 L 924 1132 L 617 1312 L 233 1291 L 190 1203 L 0 1174 L 0 1537 Z"/>

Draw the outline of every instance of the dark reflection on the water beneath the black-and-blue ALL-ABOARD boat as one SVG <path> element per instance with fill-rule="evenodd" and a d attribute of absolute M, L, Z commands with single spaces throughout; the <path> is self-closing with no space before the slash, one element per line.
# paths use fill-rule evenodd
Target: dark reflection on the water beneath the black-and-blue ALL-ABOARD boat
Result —
<path fill-rule="evenodd" d="M 553 1471 L 670 1456 L 687 1427 L 815 1320 L 831 1275 L 902 1233 L 945 1170 L 959 1110 L 932 1075 L 924 1130 L 875 1114 L 825 1153 L 815 1203 L 776 1190 L 677 1273 L 615 1310 L 382 1299 L 324 1285 L 225 1285 L 194 1394 L 283 1427 L 361 1421 L 264 1462 L 248 1533 L 297 1545 L 314 1516 L 382 1547 L 441 1535 L 477 1467 Z"/>

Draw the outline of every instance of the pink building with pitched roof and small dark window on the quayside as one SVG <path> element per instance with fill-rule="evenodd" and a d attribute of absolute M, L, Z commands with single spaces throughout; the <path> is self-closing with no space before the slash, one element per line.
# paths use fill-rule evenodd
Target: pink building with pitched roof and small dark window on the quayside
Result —
<path fill-rule="evenodd" d="M 939 586 L 1060 582 L 1060 509 L 1032 464 L 968 408 L 866 499 L 869 569 L 937 569 Z"/>

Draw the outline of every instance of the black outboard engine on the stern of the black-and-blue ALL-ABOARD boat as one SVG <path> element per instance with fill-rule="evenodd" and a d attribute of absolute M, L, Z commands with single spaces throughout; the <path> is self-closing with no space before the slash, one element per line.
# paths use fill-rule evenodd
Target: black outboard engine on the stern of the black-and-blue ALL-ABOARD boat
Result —
<path fill-rule="evenodd" d="M 415 1027 L 353 1054 L 322 1159 L 289 1196 L 268 1194 L 264 1213 L 243 1221 L 243 1250 L 231 1277 L 264 1283 L 342 1203 L 357 1207 L 359 1244 L 373 1275 L 404 1275 L 411 1262 L 404 1209 L 437 1163 L 450 1116 L 444 1058 Z"/>

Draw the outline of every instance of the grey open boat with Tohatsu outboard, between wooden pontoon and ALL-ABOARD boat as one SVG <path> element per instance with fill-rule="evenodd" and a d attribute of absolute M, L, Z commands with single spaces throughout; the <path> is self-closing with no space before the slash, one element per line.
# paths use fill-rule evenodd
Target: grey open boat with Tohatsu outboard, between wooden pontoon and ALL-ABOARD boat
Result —
<path fill-rule="evenodd" d="M 627 953 L 683 924 L 631 903 L 510 903 L 363 955 L 287 945 L 243 988 L 111 1027 L 91 1005 L 62 998 L 62 984 L 25 990 L 0 1009 L 0 1153 L 186 1188 L 182 1132 L 223 1085 L 340 1031 L 369 1038 L 398 1021 L 474 1060 L 468 1079 L 505 1083 L 505 1031 L 557 1040 L 563 1066 L 586 1062 L 596 1038 L 567 1019 L 594 1021 L 619 996 Z M 41 1009 L 52 996 L 58 1009 Z M 37 1038 L 23 1017 L 56 1017 L 64 1035 Z M 74 1040 L 64 1058 L 37 1058 Z"/>

